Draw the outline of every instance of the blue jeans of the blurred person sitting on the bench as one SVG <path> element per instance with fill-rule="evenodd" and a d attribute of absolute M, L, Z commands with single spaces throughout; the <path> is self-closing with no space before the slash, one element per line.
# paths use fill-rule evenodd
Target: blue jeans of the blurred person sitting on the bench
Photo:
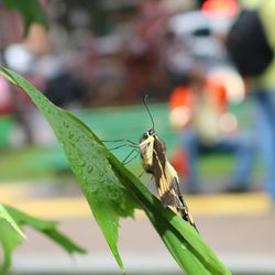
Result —
<path fill-rule="evenodd" d="M 251 180 L 253 142 L 249 136 L 226 136 L 211 146 L 201 143 L 193 130 L 183 132 L 182 140 L 189 164 L 187 186 L 190 191 L 199 190 L 198 157 L 204 151 L 234 153 L 237 157 L 232 185 L 246 187 Z"/>

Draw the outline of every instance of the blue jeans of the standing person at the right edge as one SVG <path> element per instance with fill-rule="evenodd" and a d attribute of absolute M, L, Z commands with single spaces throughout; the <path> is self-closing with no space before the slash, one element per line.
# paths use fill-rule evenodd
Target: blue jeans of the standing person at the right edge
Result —
<path fill-rule="evenodd" d="M 257 145 L 264 164 L 265 189 L 275 200 L 275 89 L 252 92 L 256 108 Z"/>

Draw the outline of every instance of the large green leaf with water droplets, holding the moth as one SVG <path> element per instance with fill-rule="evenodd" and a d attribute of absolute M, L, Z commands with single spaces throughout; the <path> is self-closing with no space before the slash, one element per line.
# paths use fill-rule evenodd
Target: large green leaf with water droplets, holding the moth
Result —
<path fill-rule="evenodd" d="M 187 274 L 231 274 L 201 235 L 169 208 L 164 208 L 88 127 L 54 106 L 14 72 L 1 68 L 0 75 L 23 88 L 48 120 L 121 268 L 117 249 L 118 220 L 132 216 L 139 204 L 183 271 Z"/>

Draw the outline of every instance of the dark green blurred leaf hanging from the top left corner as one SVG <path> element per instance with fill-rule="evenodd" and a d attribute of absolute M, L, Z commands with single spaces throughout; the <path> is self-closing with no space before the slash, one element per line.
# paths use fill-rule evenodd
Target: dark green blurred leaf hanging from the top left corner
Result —
<path fill-rule="evenodd" d="M 24 36 L 28 35 L 31 24 L 38 23 L 47 28 L 47 19 L 38 0 L 4 0 L 7 8 L 18 11 L 24 21 Z"/>

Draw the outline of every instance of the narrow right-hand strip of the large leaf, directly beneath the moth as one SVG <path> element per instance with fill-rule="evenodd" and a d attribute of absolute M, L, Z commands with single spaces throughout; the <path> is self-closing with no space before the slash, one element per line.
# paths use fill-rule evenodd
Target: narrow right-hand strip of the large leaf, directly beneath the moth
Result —
<path fill-rule="evenodd" d="M 152 224 L 183 271 L 191 275 L 231 274 L 189 223 L 169 208 L 163 208 L 161 201 L 112 155 L 110 162 L 124 185 L 138 196 Z"/>

